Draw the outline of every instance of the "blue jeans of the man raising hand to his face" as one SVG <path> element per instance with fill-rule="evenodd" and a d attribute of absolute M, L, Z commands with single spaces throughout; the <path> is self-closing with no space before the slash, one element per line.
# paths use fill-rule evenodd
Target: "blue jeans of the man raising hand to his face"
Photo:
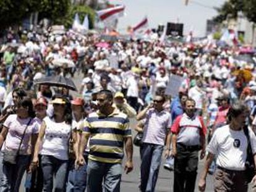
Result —
<path fill-rule="evenodd" d="M 155 191 L 163 147 L 159 144 L 143 143 L 142 164 L 140 165 L 140 190 L 142 192 Z"/>

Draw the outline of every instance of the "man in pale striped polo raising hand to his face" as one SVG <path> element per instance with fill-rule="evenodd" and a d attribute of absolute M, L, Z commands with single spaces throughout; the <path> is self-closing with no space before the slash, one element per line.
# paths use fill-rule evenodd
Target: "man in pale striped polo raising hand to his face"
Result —
<path fill-rule="evenodd" d="M 171 114 L 164 110 L 164 102 L 164 96 L 158 94 L 153 99 L 153 104 L 137 115 L 137 120 L 145 119 L 142 139 L 142 164 L 140 165 L 140 191 L 142 192 L 155 191 L 164 141 L 171 126 Z"/>

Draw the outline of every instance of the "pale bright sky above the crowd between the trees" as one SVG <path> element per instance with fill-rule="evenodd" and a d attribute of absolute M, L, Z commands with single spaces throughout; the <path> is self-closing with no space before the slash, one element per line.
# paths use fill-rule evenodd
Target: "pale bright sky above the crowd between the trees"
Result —
<path fill-rule="evenodd" d="M 119 30 L 135 26 L 145 16 L 149 27 L 156 28 L 159 23 L 184 23 L 184 35 L 193 31 L 194 36 L 205 36 L 207 19 L 217 15 L 213 7 L 220 7 L 225 0 L 109 0 L 113 4 L 126 6 L 125 16 L 119 19 Z"/>

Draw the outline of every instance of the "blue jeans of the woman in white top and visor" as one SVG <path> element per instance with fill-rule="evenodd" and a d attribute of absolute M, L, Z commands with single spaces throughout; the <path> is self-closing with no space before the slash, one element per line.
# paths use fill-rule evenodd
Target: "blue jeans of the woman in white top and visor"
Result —
<path fill-rule="evenodd" d="M 66 191 L 69 161 L 57 159 L 54 156 L 42 156 L 41 167 L 43 170 L 43 191 L 53 191 L 53 176 L 55 176 L 54 191 Z"/>

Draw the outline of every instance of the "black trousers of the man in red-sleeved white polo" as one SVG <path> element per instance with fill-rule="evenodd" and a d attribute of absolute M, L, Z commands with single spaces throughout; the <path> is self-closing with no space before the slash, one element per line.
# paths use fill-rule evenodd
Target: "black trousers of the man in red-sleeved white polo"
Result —
<path fill-rule="evenodd" d="M 194 192 L 197 179 L 198 150 L 177 143 L 174 158 L 174 192 Z"/>

